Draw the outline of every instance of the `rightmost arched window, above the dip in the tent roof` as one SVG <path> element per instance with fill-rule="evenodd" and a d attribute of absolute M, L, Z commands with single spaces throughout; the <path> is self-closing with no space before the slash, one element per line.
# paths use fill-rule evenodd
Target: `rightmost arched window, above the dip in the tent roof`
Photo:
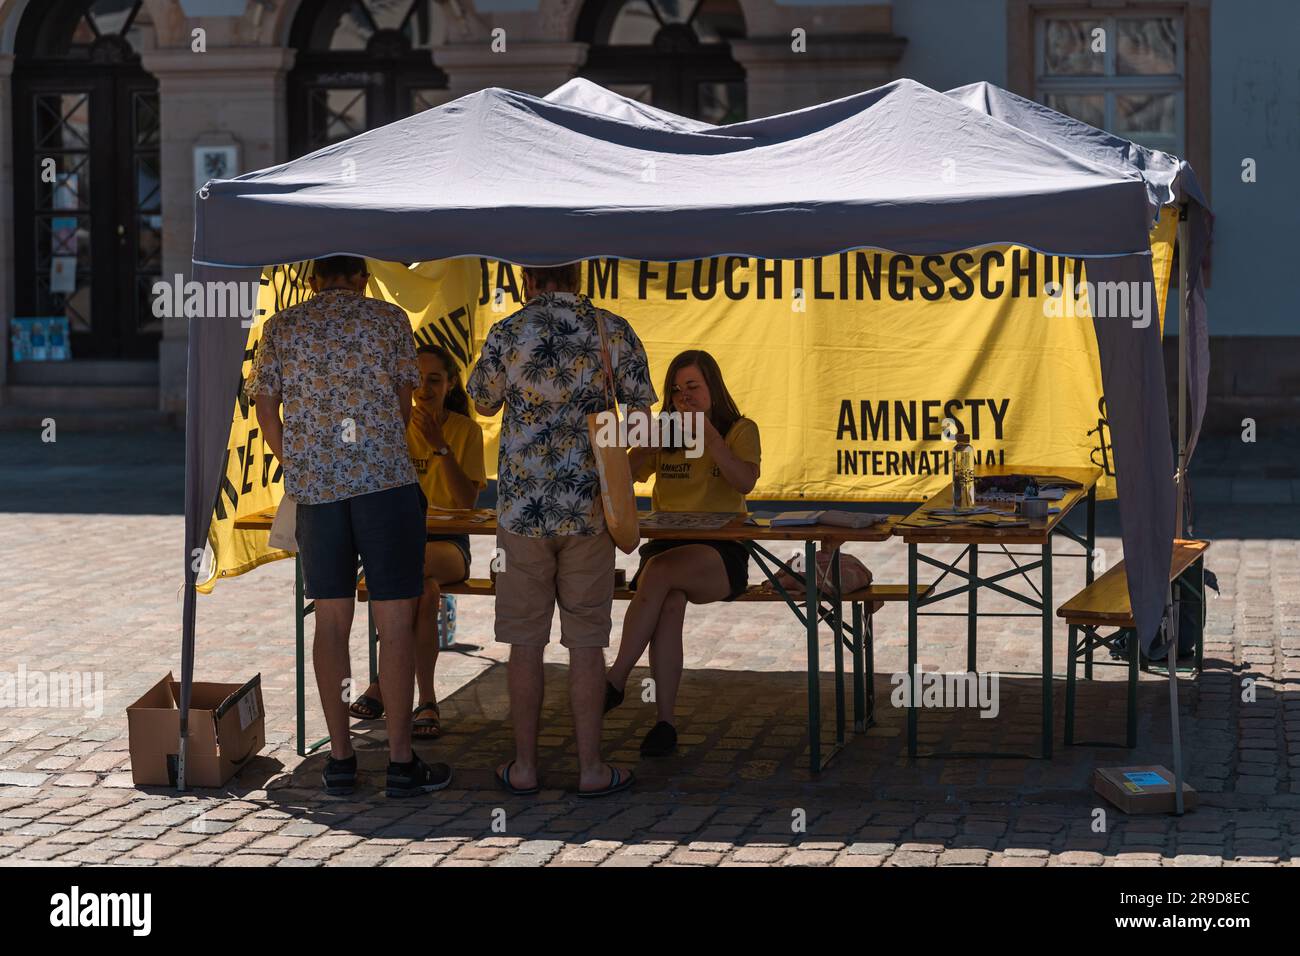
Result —
<path fill-rule="evenodd" d="M 642 103 L 712 124 L 746 118 L 738 0 L 588 0 L 582 75 Z"/>

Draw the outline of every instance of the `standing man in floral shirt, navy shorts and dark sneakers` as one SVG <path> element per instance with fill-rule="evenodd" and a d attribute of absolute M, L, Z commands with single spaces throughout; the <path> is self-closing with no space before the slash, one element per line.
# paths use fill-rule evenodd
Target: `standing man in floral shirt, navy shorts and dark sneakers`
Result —
<path fill-rule="evenodd" d="M 316 684 L 330 732 L 325 790 L 347 793 L 356 784 L 346 697 L 360 557 L 384 641 L 387 793 L 410 796 L 451 782 L 446 763 L 428 766 L 411 752 L 426 503 L 406 424 L 420 367 L 406 312 L 367 298 L 368 278 L 364 259 L 317 259 L 316 294 L 266 320 L 244 392 L 283 467 L 285 494 L 296 502 L 303 585 L 316 602 Z"/>

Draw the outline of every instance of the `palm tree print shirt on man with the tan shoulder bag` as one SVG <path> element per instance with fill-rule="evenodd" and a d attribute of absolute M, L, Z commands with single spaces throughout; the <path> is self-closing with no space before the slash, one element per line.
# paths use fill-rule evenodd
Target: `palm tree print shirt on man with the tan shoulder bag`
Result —
<path fill-rule="evenodd" d="M 585 295 L 542 293 L 488 333 L 465 388 L 484 408 L 504 406 L 497 464 L 497 524 L 512 535 L 558 537 L 604 531 L 601 480 L 586 416 L 608 407 L 604 320 L 618 401 L 655 403 L 650 363 L 625 319 Z"/>

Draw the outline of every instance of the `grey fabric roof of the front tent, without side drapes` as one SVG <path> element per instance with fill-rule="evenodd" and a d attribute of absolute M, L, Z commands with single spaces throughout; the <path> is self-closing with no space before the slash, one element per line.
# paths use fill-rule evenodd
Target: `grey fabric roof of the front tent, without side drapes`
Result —
<path fill-rule="evenodd" d="M 727 127 L 673 120 L 662 111 L 611 118 L 484 90 L 208 183 L 194 258 L 255 267 L 343 252 L 485 255 L 545 265 L 811 258 L 862 246 L 930 254 L 1014 242 L 1074 256 L 1148 248 L 1138 173 L 1071 155 L 909 79 Z"/>

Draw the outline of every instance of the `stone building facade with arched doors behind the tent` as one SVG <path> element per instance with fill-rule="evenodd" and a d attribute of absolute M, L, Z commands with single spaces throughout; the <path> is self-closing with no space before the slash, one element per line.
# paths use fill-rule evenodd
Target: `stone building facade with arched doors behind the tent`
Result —
<path fill-rule="evenodd" d="M 1297 35 L 1292 0 L 0 0 L 0 316 L 66 319 L 73 356 L 6 349 L 0 420 L 177 420 L 186 320 L 151 289 L 190 271 L 204 179 L 575 75 L 718 124 L 987 79 L 1183 155 L 1217 212 L 1216 398 L 1284 405 Z"/>

